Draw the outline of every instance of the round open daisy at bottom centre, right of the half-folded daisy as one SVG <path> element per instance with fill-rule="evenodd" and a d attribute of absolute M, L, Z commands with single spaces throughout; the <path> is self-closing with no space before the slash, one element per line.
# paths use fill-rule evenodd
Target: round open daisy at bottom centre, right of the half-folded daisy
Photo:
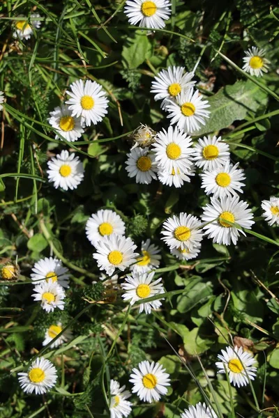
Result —
<path fill-rule="evenodd" d="M 159 363 L 149 363 L 146 360 L 138 364 L 138 369 L 132 370 L 130 382 L 134 384 L 132 392 L 140 397 L 141 401 L 151 403 L 159 401 L 161 395 L 167 394 L 170 379 L 169 373 Z"/>

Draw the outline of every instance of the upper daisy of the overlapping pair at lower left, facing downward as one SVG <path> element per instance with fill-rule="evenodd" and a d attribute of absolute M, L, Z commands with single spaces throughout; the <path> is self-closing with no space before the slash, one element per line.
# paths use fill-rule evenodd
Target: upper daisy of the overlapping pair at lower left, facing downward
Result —
<path fill-rule="evenodd" d="M 57 283 L 63 288 L 68 288 L 69 270 L 63 267 L 62 261 L 57 258 L 41 258 L 32 268 L 31 279 L 40 280 L 38 284 L 46 281 L 47 283 Z"/>

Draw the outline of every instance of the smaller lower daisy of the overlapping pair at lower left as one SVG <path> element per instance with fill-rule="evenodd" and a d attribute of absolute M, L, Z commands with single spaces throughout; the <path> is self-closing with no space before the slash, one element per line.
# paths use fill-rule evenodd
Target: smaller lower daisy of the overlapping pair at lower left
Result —
<path fill-rule="evenodd" d="M 34 301 L 40 300 L 40 306 L 45 309 L 47 313 L 53 312 L 55 308 L 59 308 L 63 311 L 65 304 L 63 299 L 65 299 L 66 295 L 62 286 L 56 283 L 47 283 L 46 281 L 43 281 L 43 283 L 37 284 L 33 288 L 33 291 L 36 292 L 31 295 L 34 298 Z"/>

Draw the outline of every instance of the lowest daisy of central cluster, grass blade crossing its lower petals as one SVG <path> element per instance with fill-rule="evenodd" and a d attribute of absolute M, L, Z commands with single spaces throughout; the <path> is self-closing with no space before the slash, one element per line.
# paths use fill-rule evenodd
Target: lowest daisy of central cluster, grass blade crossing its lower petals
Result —
<path fill-rule="evenodd" d="M 122 295 L 123 299 L 130 301 L 133 305 L 138 300 L 143 301 L 146 297 L 156 296 L 160 293 L 164 293 L 163 284 L 160 283 L 162 278 L 157 279 L 151 283 L 155 272 L 151 273 L 140 273 L 132 272 L 132 275 L 125 277 L 126 283 L 121 284 L 126 293 Z M 164 300 L 163 298 L 161 300 Z M 151 308 L 158 309 L 161 306 L 160 300 L 153 300 L 153 302 L 141 303 L 140 314 L 144 311 L 146 314 L 151 313 Z"/>

